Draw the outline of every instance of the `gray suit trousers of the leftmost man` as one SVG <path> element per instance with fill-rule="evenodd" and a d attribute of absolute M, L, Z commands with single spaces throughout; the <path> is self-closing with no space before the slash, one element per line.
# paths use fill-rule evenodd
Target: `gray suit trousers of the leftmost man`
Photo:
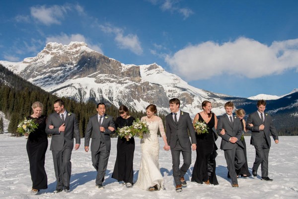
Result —
<path fill-rule="evenodd" d="M 63 187 L 70 187 L 72 175 L 72 151 L 73 149 L 66 142 L 64 142 L 61 151 L 52 151 L 57 180 L 56 190 L 63 189 Z"/>

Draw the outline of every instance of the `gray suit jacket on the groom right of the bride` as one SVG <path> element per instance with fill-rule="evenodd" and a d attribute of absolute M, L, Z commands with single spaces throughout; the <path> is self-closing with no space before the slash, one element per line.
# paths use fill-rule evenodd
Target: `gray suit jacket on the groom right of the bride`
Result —
<path fill-rule="evenodd" d="M 196 144 L 196 134 L 193 123 L 188 112 L 180 111 L 178 124 L 175 124 L 172 113 L 165 116 L 165 130 L 167 143 L 171 148 L 175 148 L 177 140 L 183 148 Z M 188 136 L 190 133 L 191 142 Z"/>

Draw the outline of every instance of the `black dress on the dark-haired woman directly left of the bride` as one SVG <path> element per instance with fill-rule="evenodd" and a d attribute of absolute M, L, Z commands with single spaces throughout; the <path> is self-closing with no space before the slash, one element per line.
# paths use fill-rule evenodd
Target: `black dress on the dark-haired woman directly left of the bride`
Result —
<path fill-rule="evenodd" d="M 127 119 L 123 119 L 121 116 L 115 120 L 116 129 L 124 126 L 131 126 L 135 118 L 130 116 Z M 125 137 L 118 137 L 117 141 L 117 157 L 115 162 L 112 178 L 123 181 L 125 183 L 133 184 L 134 180 L 134 152 L 135 152 L 135 139 L 132 137 L 129 141 Z"/>

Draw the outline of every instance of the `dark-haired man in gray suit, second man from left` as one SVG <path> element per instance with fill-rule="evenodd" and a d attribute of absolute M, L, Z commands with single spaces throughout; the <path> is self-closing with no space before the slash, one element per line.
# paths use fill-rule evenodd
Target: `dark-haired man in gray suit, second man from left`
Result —
<path fill-rule="evenodd" d="M 104 189 L 105 172 L 111 150 L 111 134 L 115 132 L 115 123 L 112 116 L 105 114 L 106 107 L 103 102 L 97 104 L 97 114 L 90 117 L 85 133 L 85 151 L 89 151 L 91 140 L 92 165 L 97 171 L 95 185 L 98 189 Z M 91 135 L 92 133 L 92 135 Z"/>

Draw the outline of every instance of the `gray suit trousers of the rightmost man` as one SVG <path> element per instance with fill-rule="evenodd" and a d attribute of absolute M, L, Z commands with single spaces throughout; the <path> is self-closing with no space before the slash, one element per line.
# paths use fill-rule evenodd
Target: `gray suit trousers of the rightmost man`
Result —
<path fill-rule="evenodd" d="M 258 171 L 261 164 L 262 177 L 268 177 L 268 158 L 270 148 L 267 144 L 262 146 L 255 146 L 256 149 L 256 159 L 253 163 L 252 170 Z"/>

